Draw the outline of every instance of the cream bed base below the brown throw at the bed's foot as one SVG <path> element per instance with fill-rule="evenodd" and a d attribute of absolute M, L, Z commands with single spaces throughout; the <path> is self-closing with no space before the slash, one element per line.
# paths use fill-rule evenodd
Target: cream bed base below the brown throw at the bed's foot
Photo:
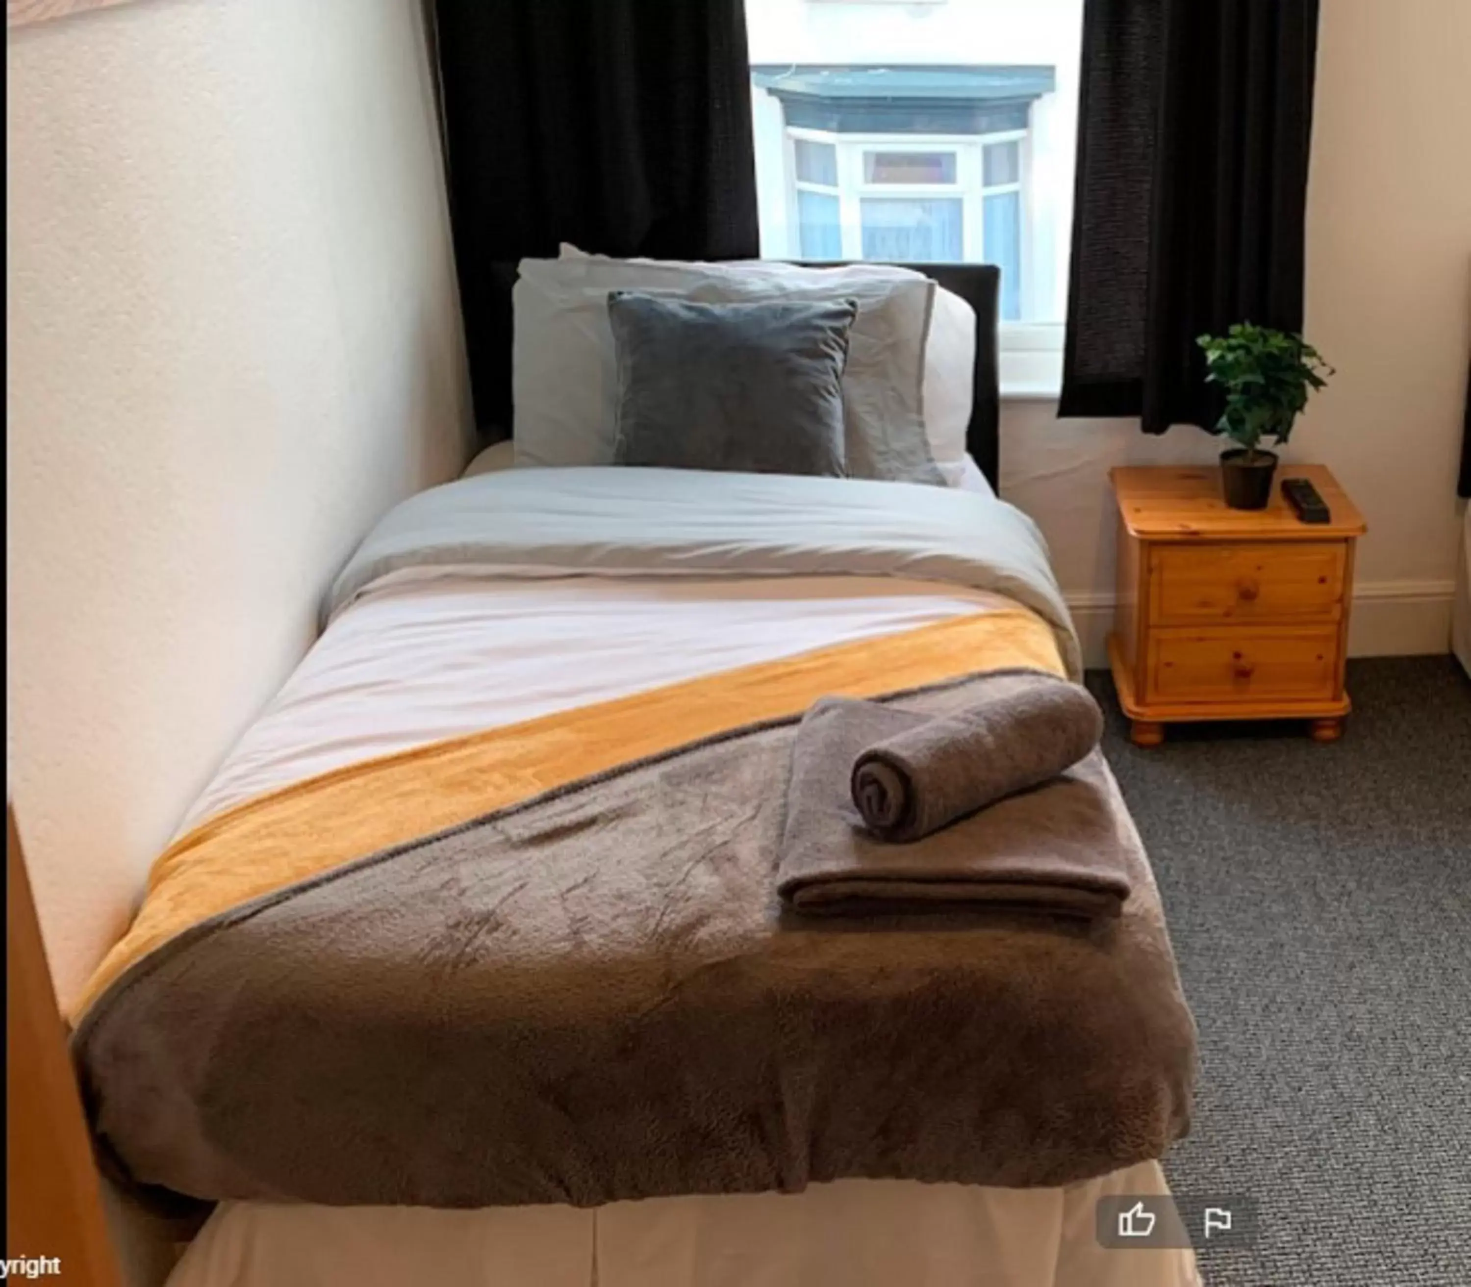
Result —
<path fill-rule="evenodd" d="M 1100 1199 L 1162 1193 L 1147 1163 L 1072 1188 L 846 1180 L 597 1211 L 225 1203 L 169 1287 L 1200 1287 L 1187 1249 L 1099 1246 Z"/>

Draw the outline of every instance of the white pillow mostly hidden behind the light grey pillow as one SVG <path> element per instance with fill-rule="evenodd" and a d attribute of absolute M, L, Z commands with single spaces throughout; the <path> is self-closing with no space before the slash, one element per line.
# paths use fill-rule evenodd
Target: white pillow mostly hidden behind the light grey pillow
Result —
<path fill-rule="evenodd" d="M 671 259 L 610 259 L 606 254 L 588 254 L 563 241 L 558 252 L 559 263 L 583 265 L 637 265 L 653 274 L 668 274 L 669 278 L 684 278 L 700 274 L 718 279 L 744 279 L 766 282 L 828 282 L 843 285 L 853 281 L 905 281 L 922 274 L 891 263 L 847 263 L 841 268 L 809 268 L 800 263 L 781 263 L 771 259 L 740 259 L 727 262 L 691 262 Z M 936 290 L 930 312 L 930 332 L 924 344 L 924 388 L 922 419 L 930 456 L 950 487 L 958 487 L 965 472 L 965 435 L 971 427 L 971 407 L 975 400 L 975 309 L 955 291 L 943 287 Z"/>

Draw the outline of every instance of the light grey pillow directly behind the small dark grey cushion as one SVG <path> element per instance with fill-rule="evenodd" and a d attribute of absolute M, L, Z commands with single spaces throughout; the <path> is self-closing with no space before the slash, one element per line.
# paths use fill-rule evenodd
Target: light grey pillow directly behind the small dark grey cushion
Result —
<path fill-rule="evenodd" d="M 855 299 L 843 374 L 849 474 L 943 484 L 924 432 L 925 346 L 934 282 L 921 274 L 828 274 L 766 265 L 609 259 L 522 260 L 512 293 L 512 393 L 518 465 L 609 465 L 616 437 L 610 290 L 675 293 L 708 303 Z"/>

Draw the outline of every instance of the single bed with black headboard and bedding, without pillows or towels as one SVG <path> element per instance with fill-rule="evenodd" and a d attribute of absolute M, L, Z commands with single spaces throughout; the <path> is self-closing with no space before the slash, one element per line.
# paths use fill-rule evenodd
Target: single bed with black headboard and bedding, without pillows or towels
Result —
<path fill-rule="evenodd" d="M 1108 925 L 805 924 L 750 838 L 818 696 L 1078 675 L 994 271 L 924 272 L 978 319 L 950 485 L 493 447 L 343 569 L 74 1015 L 112 1174 L 218 1203 L 177 1287 L 1197 1281 L 1096 1236 L 1194 1072 L 1106 769 Z"/>

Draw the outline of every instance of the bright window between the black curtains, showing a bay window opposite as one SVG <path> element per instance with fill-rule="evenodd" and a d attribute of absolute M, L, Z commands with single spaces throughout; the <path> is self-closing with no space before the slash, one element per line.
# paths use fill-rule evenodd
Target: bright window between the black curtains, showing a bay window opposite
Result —
<path fill-rule="evenodd" d="M 1084 0 L 746 0 L 761 252 L 996 263 L 1066 313 Z"/>

